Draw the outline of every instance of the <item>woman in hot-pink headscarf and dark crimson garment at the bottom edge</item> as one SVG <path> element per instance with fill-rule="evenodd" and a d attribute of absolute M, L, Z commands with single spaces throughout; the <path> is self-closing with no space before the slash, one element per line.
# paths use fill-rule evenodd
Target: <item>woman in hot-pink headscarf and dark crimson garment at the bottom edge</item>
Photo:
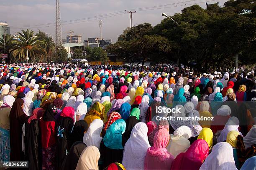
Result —
<path fill-rule="evenodd" d="M 186 152 L 177 155 L 171 170 L 199 170 L 208 153 L 209 147 L 205 140 L 196 140 Z"/>

